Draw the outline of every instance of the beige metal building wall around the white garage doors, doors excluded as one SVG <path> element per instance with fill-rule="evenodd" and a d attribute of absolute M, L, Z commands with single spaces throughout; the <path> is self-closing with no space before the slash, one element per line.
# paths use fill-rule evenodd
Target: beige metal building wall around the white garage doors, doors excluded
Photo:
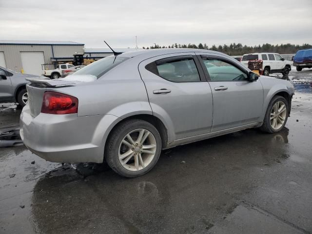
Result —
<path fill-rule="evenodd" d="M 52 54 L 52 46 L 54 56 Z M 5 64 L 8 69 L 20 72 L 22 63 L 20 52 L 42 51 L 44 63 L 52 63 L 52 57 L 73 57 L 75 52 L 82 52 L 83 45 L 0 45 L 0 51 L 4 52 Z"/>

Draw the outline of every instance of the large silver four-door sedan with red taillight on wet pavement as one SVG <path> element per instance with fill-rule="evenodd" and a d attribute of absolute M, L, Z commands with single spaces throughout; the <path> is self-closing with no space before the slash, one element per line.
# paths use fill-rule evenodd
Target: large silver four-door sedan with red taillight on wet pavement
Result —
<path fill-rule="evenodd" d="M 30 151 L 54 162 L 105 160 L 126 177 L 150 171 L 162 149 L 247 128 L 278 132 L 294 94 L 288 80 L 196 49 L 127 52 L 30 82 L 20 116 Z"/>

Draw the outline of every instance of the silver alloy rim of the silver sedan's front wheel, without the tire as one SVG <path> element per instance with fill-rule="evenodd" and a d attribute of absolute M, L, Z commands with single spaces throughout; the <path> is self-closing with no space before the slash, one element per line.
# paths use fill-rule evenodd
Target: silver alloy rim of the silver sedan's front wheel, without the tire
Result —
<path fill-rule="evenodd" d="M 286 104 L 282 101 L 277 101 L 271 110 L 271 115 L 270 115 L 270 123 L 271 127 L 274 130 L 280 129 L 286 119 L 287 115 L 287 108 Z"/>

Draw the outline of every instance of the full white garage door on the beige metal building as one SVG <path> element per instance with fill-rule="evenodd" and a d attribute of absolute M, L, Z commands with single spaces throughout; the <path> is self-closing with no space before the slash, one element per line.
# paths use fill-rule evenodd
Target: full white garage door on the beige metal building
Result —
<path fill-rule="evenodd" d="M 43 52 L 20 52 L 20 58 L 24 73 L 38 76 L 42 74 Z"/>

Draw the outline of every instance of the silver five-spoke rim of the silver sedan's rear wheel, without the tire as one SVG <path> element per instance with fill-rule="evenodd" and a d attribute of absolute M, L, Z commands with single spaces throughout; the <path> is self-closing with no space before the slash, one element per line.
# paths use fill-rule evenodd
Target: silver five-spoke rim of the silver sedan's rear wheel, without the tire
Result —
<path fill-rule="evenodd" d="M 156 138 L 150 131 L 135 129 L 121 140 L 118 159 L 128 171 L 140 171 L 152 162 L 156 149 Z"/>

